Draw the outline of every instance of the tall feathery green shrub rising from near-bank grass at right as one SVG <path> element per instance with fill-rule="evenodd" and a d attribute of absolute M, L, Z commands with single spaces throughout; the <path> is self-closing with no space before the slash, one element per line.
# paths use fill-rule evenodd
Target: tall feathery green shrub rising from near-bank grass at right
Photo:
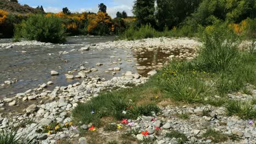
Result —
<path fill-rule="evenodd" d="M 206 28 L 201 41 L 199 61 L 202 69 L 214 72 L 231 70 L 239 61 L 238 37 L 226 25 Z"/>

